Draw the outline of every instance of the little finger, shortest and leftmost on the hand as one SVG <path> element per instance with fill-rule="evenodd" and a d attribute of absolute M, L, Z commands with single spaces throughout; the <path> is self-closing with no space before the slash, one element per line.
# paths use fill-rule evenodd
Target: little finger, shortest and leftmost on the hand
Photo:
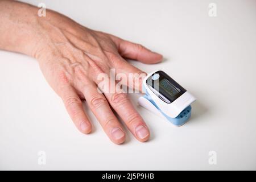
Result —
<path fill-rule="evenodd" d="M 82 101 L 72 86 L 67 85 L 61 88 L 61 98 L 77 129 L 84 134 L 90 133 L 92 131 L 92 125 L 84 112 Z"/>

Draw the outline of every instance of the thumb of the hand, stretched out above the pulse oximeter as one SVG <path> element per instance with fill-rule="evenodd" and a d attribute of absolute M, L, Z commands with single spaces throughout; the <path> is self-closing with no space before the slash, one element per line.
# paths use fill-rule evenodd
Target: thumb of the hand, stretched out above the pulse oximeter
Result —
<path fill-rule="evenodd" d="M 163 56 L 159 53 L 150 51 L 141 44 L 132 43 L 119 38 L 115 39 L 118 46 L 118 52 L 122 57 L 134 59 L 146 64 L 155 64 L 162 61 Z"/>

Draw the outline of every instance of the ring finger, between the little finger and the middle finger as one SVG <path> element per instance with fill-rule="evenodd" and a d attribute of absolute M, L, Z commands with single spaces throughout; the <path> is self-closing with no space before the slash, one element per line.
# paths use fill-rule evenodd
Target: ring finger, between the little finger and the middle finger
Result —
<path fill-rule="evenodd" d="M 110 109 L 104 95 L 98 92 L 97 86 L 94 83 L 86 84 L 82 92 L 90 109 L 93 111 L 108 137 L 114 143 L 123 143 L 125 141 L 125 132 L 122 129 L 121 123 L 118 122 L 118 119 Z"/>

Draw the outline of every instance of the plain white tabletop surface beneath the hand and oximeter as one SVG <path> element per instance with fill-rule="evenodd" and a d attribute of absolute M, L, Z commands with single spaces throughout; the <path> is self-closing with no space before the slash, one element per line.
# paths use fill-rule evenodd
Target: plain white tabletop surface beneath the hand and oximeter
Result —
<path fill-rule="evenodd" d="M 197 101 L 181 127 L 138 107 L 150 141 L 129 134 L 116 145 L 92 114 L 94 132 L 77 131 L 36 60 L 0 51 L 0 169 L 256 169 L 254 0 L 27 2 L 159 51 L 161 64 L 132 64 L 163 69 Z M 217 17 L 208 15 L 210 2 Z M 134 103 L 138 97 L 131 95 Z M 217 165 L 208 163 L 209 151 Z"/>

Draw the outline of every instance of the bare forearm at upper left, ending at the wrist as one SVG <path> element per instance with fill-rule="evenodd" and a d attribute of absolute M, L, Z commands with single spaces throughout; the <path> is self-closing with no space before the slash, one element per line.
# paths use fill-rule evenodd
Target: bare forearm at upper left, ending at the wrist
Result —
<path fill-rule="evenodd" d="M 0 49 L 34 56 L 37 11 L 26 3 L 0 0 Z"/>

